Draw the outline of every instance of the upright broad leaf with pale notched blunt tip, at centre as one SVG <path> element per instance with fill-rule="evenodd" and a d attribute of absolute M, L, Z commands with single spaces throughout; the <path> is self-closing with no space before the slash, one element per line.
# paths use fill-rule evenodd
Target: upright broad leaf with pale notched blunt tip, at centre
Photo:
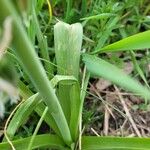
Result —
<path fill-rule="evenodd" d="M 54 26 L 55 54 L 59 67 L 57 68 L 58 75 L 74 76 L 78 80 L 82 36 L 83 29 L 80 23 L 69 25 L 58 22 Z M 80 111 L 79 84 L 76 86 L 60 82 L 57 93 L 67 122 L 70 125 L 72 138 L 75 139 L 75 133 L 73 132 L 78 126 Z"/>

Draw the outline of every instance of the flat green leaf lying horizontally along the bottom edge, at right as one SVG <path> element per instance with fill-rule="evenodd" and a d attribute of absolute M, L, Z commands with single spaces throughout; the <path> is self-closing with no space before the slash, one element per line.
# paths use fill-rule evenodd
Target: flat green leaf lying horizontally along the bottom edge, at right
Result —
<path fill-rule="evenodd" d="M 149 150 L 150 138 L 94 137 L 82 138 L 82 150 Z"/>

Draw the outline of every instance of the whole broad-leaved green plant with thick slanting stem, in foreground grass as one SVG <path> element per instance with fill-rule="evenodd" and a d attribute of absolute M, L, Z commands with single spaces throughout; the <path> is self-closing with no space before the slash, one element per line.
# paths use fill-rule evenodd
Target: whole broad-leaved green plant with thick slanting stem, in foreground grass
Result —
<path fill-rule="evenodd" d="M 72 1 L 69 2 L 71 3 Z M 85 1 L 82 3 L 83 7 L 85 7 L 84 3 Z M 83 31 L 82 25 L 79 23 L 69 25 L 64 22 L 58 22 L 54 26 L 55 54 L 58 67 L 57 75 L 49 81 L 51 77 L 48 78 L 46 71 L 50 71 L 54 75 L 50 67 L 52 63 L 50 66 L 45 65 L 45 71 L 34 50 L 31 39 L 22 27 L 22 22 L 12 2 L 1 0 L 0 5 L 0 24 L 2 25 L 8 16 L 12 18 L 13 41 L 11 47 L 13 49 L 12 53 L 15 54 L 17 59 L 14 61 L 25 70 L 24 73 L 29 76 L 30 81 L 36 88 L 36 92 L 38 92 L 34 94 L 22 81 L 19 81 L 20 94 L 25 101 L 22 102 L 10 120 L 5 138 L 0 144 L 1 150 L 10 148 L 25 150 L 27 147 L 29 149 L 48 147 L 66 150 L 149 149 L 150 139 L 148 138 L 82 137 L 81 132 L 82 108 L 90 75 L 106 78 L 126 90 L 139 94 L 147 100 L 150 99 L 148 88 L 122 73 L 116 66 L 98 58 L 98 56 L 85 53 L 82 54 L 82 61 L 88 71 L 84 72 L 82 82 L 80 82 L 79 61 Z M 31 5 L 35 6 L 36 3 L 31 3 Z M 39 6 L 40 4 L 37 3 L 37 5 Z M 34 10 L 34 7 L 32 9 Z M 34 19 L 37 19 L 36 13 L 33 13 Z M 43 37 L 39 32 L 40 29 L 37 28 L 36 30 L 38 30 L 41 36 L 38 37 L 38 42 L 41 42 L 39 46 L 41 50 L 46 45 L 42 44 Z M 98 46 L 94 53 L 149 48 L 149 38 L 149 31 L 146 31 L 103 48 Z M 44 51 L 41 51 L 41 53 L 43 54 Z M 43 57 L 44 60 L 50 61 L 47 53 L 46 55 L 43 54 Z M 17 129 L 26 122 L 33 111 L 36 111 L 41 116 L 33 136 L 15 140 Z M 55 134 L 36 135 L 42 120 L 53 129 Z"/>

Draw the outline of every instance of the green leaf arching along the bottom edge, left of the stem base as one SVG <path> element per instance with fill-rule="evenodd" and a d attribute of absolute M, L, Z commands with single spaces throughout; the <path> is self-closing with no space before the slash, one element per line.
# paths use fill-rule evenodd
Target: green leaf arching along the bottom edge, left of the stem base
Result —
<path fill-rule="evenodd" d="M 15 150 L 27 150 L 28 144 L 30 143 L 32 137 L 22 138 L 19 140 L 12 141 Z M 35 136 L 35 139 L 32 144 L 32 149 L 39 148 L 52 148 L 58 150 L 67 150 L 65 148 L 64 142 L 56 135 L 43 134 Z M 0 143 L 0 150 L 10 150 L 11 146 L 8 142 Z"/>

